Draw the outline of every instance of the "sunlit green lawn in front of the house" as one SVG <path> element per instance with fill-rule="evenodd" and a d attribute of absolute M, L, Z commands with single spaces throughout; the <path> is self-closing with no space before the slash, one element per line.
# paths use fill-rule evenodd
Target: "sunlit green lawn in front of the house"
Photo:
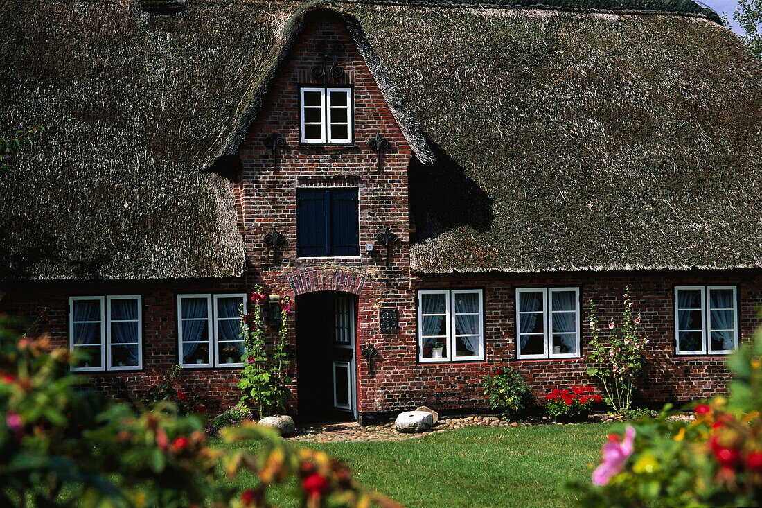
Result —
<path fill-rule="evenodd" d="M 344 461 L 357 481 L 409 507 L 570 506 L 609 426 L 467 427 L 400 442 L 299 443 Z M 251 486 L 251 477 L 236 485 Z M 277 506 L 296 506 L 276 492 Z"/>

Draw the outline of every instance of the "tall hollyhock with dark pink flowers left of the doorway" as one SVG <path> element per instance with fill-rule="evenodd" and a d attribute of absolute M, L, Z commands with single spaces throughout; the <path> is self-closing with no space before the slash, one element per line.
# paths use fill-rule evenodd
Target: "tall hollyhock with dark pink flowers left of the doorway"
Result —
<path fill-rule="evenodd" d="M 245 364 L 238 384 L 243 392 L 241 402 L 252 407 L 259 419 L 287 411 L 291 382 L 288 376 L 290 361 L 286 340 L 291 302 L 288 297 L 283 297 L 280 301 L 278 339 L 272 353 L 269 353 L 264 342 L 264 300 L 261 286 L 255 287 L 251 296 L 254 310 L 242 316 L 241 336 L 246 352 L 242 356 Z"/>

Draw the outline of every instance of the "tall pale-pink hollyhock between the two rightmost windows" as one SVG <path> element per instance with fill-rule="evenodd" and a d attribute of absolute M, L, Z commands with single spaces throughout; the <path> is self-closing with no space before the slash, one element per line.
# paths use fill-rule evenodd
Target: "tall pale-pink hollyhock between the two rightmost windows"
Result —
<path fill-rule="evenodd" d="M 588 375 L 597 378 L 604 388 L 606 404 L 617 413 L 626 413 L 632 406 L 635 381 L 643 368 L 644 346 L 648 338 L 638 330 L 640 316 L 632 313 L 632 300 L 627 286 L 624 294 L 622 323 L 619 330 L 613 320 L 600 327 L 594 304 L 590 303 L 590 362 Z M 606 330 L 610 330 L 607 332 Z"/>

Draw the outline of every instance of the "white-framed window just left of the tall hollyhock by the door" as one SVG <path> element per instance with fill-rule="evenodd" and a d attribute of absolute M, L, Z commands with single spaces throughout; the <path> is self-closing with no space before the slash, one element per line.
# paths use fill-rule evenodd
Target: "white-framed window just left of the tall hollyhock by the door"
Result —
<path fill-rule="evenodd" d="M 243 365 L 245 294 L 178 294 L 178 362 L 183 367 Z"/>

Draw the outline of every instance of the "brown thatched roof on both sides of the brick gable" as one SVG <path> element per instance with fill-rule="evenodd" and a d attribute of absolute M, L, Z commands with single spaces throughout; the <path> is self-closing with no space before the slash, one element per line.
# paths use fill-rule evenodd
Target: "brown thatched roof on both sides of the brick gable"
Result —
<path fill-rule="evenodd" d="M 762 66 L 738 37 L 688 0 L 534 3 L 333 7 L 418 155 L 414 268 L 762 264 Z M 48 132 L 2 176 L 0 275 L 242 274 L 208 170 L 312 7 L 183 7 L 2 3 L 0 126 Z"/>

